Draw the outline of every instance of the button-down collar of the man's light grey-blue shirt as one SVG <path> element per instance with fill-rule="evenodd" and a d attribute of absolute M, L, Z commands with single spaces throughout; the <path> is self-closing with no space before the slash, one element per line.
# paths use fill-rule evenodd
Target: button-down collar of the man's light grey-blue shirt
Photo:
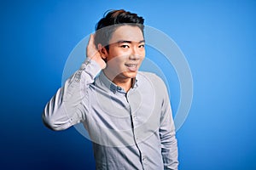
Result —
<path fill-rule="evenodd" d="M 121 93 L 125 93 L 125 90 L 119 86 L 117 86 L 115 83 L 111 82 L 108 77 L 104 74 L 103 71 L 101 71 L 100 80 L 103 82 L 103 84 L 110 89 L 114 94 L 118 91 Z M 137 88 L 137 78 L 133 78 L 132 80 L 132 87 L 131 88 Z"/>

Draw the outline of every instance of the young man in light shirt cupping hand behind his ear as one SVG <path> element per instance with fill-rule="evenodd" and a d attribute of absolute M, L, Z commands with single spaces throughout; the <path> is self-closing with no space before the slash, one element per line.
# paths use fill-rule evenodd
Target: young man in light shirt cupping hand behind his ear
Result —
<path fill-rule="evenodd" d="M 108 12 L 90 36 L 87 59 L 44 109 L 53 130 L 84 124 L 96 169 L 177 169 L 166 86 L 138 71 L 145 57 L 143 21 L 125 10 Z"/>

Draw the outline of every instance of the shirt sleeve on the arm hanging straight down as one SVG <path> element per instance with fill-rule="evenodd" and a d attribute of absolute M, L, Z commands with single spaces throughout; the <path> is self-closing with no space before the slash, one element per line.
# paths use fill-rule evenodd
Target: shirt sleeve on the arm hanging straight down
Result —
<path fill-rule="evenodd" d="M 177 139 L 175 136 L 175 127 L 172 118 L 171 104 L 168 92 L 165 88 L 165 97 L 162 103 L 162 110 L 160 116 L 160 143 L 161 154 L 164 161 L 164 169 L 177 170 Z"/>

